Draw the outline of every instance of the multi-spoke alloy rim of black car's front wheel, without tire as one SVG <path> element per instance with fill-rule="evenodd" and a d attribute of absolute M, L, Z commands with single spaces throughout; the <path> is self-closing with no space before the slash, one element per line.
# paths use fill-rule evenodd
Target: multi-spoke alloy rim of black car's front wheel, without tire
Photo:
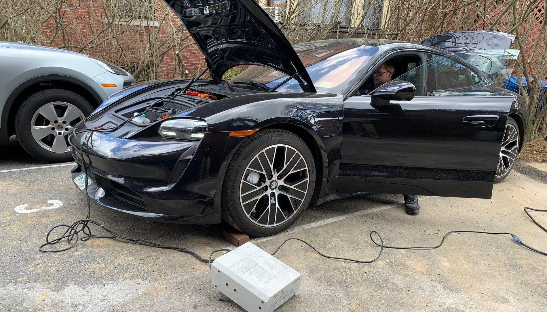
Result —
<path fill-rule="evenodd" d="M 304 202 L 308 164 L 295 148 L 277 144 L 253 157 L 243 172 L 240 203 L 245 215 L 259 226 L 276 226 L 292 218 Z"/>

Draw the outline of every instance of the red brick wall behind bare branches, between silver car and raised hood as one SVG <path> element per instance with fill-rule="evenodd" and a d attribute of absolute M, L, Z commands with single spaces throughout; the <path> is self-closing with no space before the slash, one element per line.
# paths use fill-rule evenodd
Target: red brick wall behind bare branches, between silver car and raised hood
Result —
<path fill-rule="evenodd" d="M 131 13 L 127 14 L 125 19 L 130 20 L 130 26 L 120 25 L 120 23 L 124 23 L 124 18 L 108 26 L 107 18 L 110 16 L 107 12 L 108 9 L 104 7 L 108 2 L 93 0 L 66 2 L 60 10 L 62 31 L 59 27 L 61 25 L 59 18 L 51 17 L 42 27 L 44 39 L 49 42 L 42 44 L 103 58 L 134 73 L 137 70 L 137 64 L 148 56 L 147 51 L 150 50 L 150 45 L 161 46 L 164 44 L 168 46 L 165 41 L 172 43 L 188 35 L 181 21 L 163 1 L 154 0 L 153 2 L 156 2 L 157 5 L 154 6 L 152 16 L 141 18 L 140 16 L 131 16 Z M 159 7 L 160 5 L 162 7 Z M 102 32 L 106 27 L 109 29 Z M 177 27 L 180 27 L 179 33 L 173 36 L 173 30 Z M 117 35 L 116 38 L 109 37 L 121 30 L 124 32 Z M 149 41 L 150 35 L 153 37 L 152 41 Z M 104 44 L 94 46 L 95 44 L 91 43 L 80 51 L 87 43 L 100 40 L 103 40 Z M 191 37 L 188 37 L 173 49 L 165 51 L 166 49 L 160 48 L 161 51 L 158 51 L 160 56 L 153 62 L 155 76 L 144 76 L 147 78 L 144 80 L 188 77 L 201 70 L 204 60 L 197 46 L 192 43 Z M 176 52 L 179 47 L 185 45 L 188 46 L 179 51 L 180 57 L 178 57 Z"/>

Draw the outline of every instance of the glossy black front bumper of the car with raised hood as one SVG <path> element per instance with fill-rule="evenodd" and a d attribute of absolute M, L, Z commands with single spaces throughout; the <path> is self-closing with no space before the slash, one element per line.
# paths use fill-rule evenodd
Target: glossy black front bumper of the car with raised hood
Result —
<path fill-rule="evenodd" d="M 155 221 L 215 224 L 222 220 L 210 191 L 216 176 L 199 176 L 199 142 L 139 141 L 101 133 L 86 137 L 89 134 L 73 135 L 70 143 L 78 164 L 72 170 L 73 182 L 83 173 L 85 159 L 91 199 Z"/>

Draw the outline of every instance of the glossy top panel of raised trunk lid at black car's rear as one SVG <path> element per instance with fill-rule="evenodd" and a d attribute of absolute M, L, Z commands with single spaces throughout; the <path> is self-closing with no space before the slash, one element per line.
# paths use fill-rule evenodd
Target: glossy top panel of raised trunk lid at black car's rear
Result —
<path fill-rule="evenodd" d="M 422 44 L 449 52 L 469 50 L 509 50 L 515 35 L 494 31 L 461 31 L 435 35 L 422 40 Z"/>

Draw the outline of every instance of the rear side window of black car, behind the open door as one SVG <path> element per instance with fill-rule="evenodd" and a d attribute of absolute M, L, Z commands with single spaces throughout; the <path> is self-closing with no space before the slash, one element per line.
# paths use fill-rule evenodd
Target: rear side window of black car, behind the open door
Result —
<path fill-rule="evenodd" d="M 431 53 L 426 53 L 426 57 L 427 95 L 453 95 L 453 92 L 467 92 L 470 87 L 481 82 L 478 74 L 457 61 L 455 57 L 441 57 Z M 438 91 L 451 92 L 443 93 Z"/>

